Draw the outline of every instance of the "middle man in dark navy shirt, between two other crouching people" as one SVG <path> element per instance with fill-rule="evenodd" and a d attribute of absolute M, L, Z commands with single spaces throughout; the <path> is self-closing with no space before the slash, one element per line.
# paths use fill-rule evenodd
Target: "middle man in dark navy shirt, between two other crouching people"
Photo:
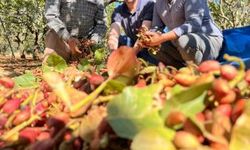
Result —
<path fill-rule="evenodd" d="M 151 27 L 154 3 L 154 0 L 124 0 L 123 4 L 114 10 L 108 37 L 108 47 L 111 51 L 122 45 L 138 47 L 138 29 L 141 26 Z M 122 31 L 125 35 L 122 35 Z M 138 57 L 156 63 L 146 49 L 138 49 L 138 52 Z"/>

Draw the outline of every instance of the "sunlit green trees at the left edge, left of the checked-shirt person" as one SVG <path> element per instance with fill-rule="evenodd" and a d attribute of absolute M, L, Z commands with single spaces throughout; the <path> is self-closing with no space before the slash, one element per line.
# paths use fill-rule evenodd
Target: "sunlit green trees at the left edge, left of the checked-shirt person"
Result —
<path fill-rule="evenodd" d="M 27 51 L 43 47 L 44 3 L 44 0 L 1 0 L 0 44 L 5 50 L 13 47 L 14 50 Z"/>

